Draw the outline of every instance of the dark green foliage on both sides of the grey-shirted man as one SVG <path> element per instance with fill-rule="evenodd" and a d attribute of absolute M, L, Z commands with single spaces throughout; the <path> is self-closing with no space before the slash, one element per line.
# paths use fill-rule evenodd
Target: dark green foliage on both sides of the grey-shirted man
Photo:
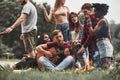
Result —
<path fill-rule="evenodd" d="M 33 3 L 38 12 L 38 35 L 42 33 L 51 34 L 54 29 L 55 23 L 52 20 L 51 22 L 46 22 L 44 18 L 43 11 L 40 10 L 39 5 Z M 50 6 L 47 3 L 44 3 L 47 11 L 49 12 Z M 3 0 L 0 2 L 0 31 L 3 31 L 5 28 L 11 26 L 17 18 L 20 16 L 22 6 L 18 1 L 14 0 Z M 2 43 L 6 46 L 13 48 L 16 58 L 21 58 L 24 53 L 24 46 L 22 41 L 19 39 L 21 34 L 20 27 L 14 29 L 10 34 L 0 35 Z M 2 49 L 2 48 L 1 48 Z"/>

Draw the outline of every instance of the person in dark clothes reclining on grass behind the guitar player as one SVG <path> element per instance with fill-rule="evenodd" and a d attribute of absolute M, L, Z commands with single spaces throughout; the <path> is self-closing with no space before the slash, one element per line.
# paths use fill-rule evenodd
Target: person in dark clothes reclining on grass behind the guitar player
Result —
<path fill-rule="evenodd" d="M 50 36 L 47 33 L 41 34 L 40 38 L 37 40 L 37 45 L 45 44 L 51 41 Z M 13 69 L 28 69 L 28 68 L 37 68 L 37 60 L 36 58 L 24 57 L 22 60 L 13 65 Z"/>

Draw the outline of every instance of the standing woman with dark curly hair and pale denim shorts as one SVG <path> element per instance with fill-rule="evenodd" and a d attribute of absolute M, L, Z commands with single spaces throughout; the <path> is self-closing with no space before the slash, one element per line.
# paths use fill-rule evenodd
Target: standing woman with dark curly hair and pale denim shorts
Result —
<path fill-rule="evenodd" d="M 113 56 L 113 46 L 111 44 L 110 28 L 105 15 L 108 13 L 109 6 L 107 4 L 93 4 L 94 15 L 99 19 L 97 25 L 93 29 L 89 28 L 89 32 L 95 35 L 97 47 L 100 52 L 100 61 L 102 68 L 110 68 Z"/>

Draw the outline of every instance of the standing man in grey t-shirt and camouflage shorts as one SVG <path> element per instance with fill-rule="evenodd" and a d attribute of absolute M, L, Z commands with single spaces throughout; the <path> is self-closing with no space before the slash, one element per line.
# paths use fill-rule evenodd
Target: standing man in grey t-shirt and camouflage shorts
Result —
<path fill-rule="evenodd" d="M 20 17 L 16 22 L 5 30 L 5 33 L 10 33 L 13 29 L 21 24 L 22 34 L 20 39 L 23 40 L 25 51 L 29 56 L 35 58 L 35 37 L 37 35 L 37 11 L 35 6 L 29 0 L 19 0 L 23 6 Z"/>

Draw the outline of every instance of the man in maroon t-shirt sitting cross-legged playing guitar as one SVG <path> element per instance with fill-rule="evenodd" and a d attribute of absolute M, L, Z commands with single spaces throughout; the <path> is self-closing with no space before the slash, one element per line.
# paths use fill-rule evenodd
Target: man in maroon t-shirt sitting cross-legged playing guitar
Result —
<path fill-rule="evenodd" d="M 65 70 L 72 67 L 75 59 L 72 56 L 69 48 L 71 44 L 65 42 L 63 34 L 60 30 L 53 31 L 53 41 L 46 44 L 41 44 L 36 47 L 37 54 L 41 56 L 37 57 L 38 63 L 45 67 L 45 69 L 56 71 L 56 70 Z M 54 54 L 48 49 L 55 48 L 56 51 L 62 51 L 63 53 L 57 55 L 57 60 L 52 62 L 51 58 L 54 57 Z"/>

